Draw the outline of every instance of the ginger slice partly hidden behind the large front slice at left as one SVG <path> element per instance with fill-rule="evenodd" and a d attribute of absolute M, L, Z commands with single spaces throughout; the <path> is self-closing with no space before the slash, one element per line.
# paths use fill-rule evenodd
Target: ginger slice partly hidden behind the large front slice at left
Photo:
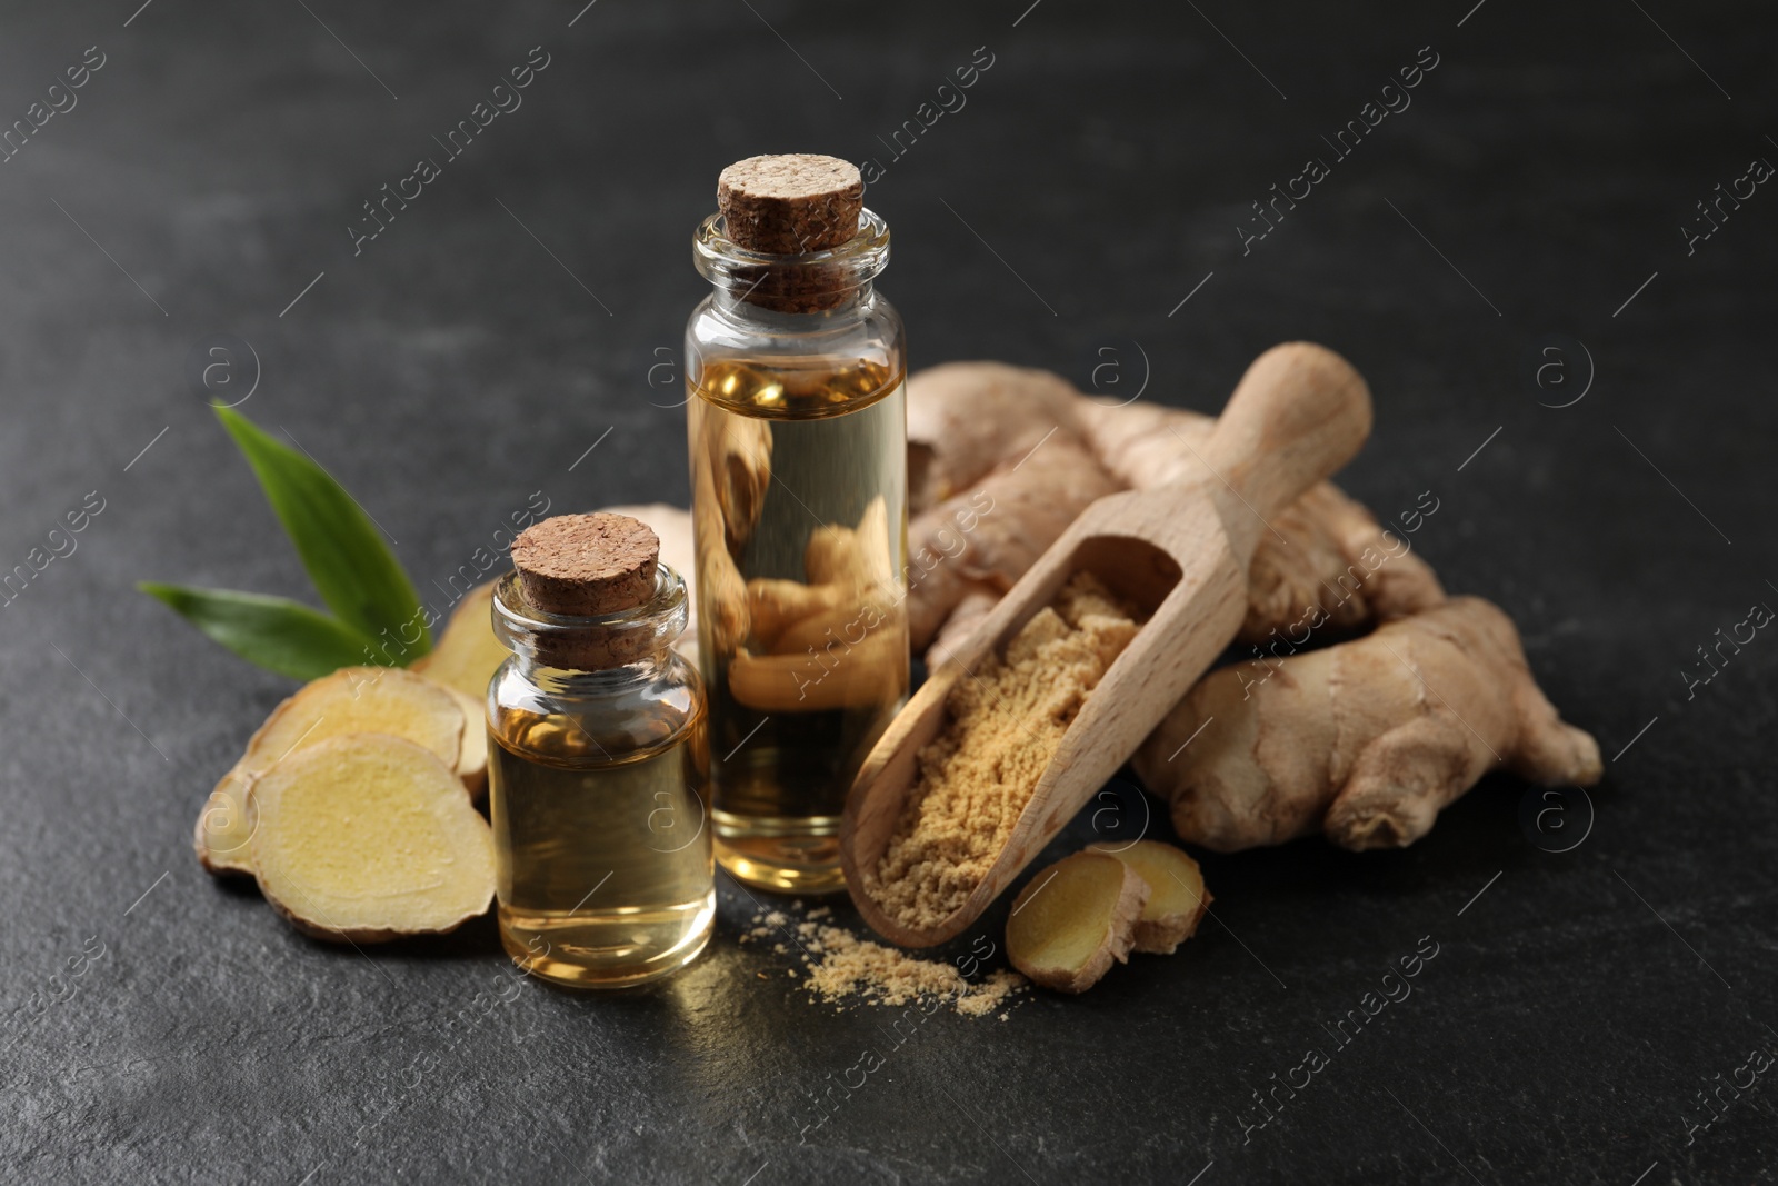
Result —
<path fill-rule="evenodd" d="M 245 786 L 286 754 L 347 733 L 388 733 L 459 766 L 473 761 L 473 754 L 464 754 L 464 711 L 441 685 L 395 667 L 341 667 L 304 685 L 272 711 L 242 759 L 210 791 L 192 836 L 197 861 L 212 873 L 252 873 L 247 841 L 254 807 Z M 475 720 L 480 722 L 480 713 Z M 484 733 L 477 729 L 478 736 Z M 484 736 L 478 777 L 485 770 Z M 471 773 L 473 766 L 462 784 L 473 795 Z"/>

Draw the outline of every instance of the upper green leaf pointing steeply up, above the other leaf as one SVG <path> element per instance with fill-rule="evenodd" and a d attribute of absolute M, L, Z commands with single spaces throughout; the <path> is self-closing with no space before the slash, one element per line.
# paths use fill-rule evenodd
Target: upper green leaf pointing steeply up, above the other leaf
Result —
<path fill-rule="evenodd" d="M 219 407 L 217 416 L 260 478 L 322 601 L 364 638 L 400 645 L 400 638 L 418 628 L 418 642 L 404 647 L 407 661 L 430 651 L 420 597 L 357 501 L 306 453 L 274 439 L 240 413 Z"/>

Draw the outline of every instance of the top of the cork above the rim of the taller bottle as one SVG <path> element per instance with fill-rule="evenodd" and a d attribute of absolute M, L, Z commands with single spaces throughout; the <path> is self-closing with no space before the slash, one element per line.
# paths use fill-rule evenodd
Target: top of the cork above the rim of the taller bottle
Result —
<path fill-rule="evenodd" d="M 717 178 L 717 208 L 729 238 L 773 256 L 829 251 L 859 233 L 864 178 L 837 156 L 749 156 Z"/>

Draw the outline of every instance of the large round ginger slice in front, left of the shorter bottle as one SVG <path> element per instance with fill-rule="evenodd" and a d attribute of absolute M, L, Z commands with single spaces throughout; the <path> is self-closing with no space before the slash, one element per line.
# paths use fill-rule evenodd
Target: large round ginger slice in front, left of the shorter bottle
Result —
<path fill-rule="evenodd" d="M 329 738 L 249 782 L 260 891 L 316 939 L 457 928 L 494 896 L 494 836 L 437 754 L 380 733 Z"/>

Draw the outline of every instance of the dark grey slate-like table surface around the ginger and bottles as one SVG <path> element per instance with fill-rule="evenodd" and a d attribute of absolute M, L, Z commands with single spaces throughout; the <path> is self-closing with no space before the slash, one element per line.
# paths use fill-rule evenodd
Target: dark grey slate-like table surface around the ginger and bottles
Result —
<path fill-rule="evenodd" d="M 103 500 L 0 608 L 0 1177 L 1778 1177 L 1744 1069 L 1778 1049 L 1778 640 L 1686 676 L 1778 606 L 1778 196 L 1737 183 L 1778 160 L 1769 11 L 135 4 L 9 5 L 0 43 L 0 126 L 28 121 L 0 164 L 0 569 Z M 361 203 L 532 46 L 523 107 L 354 254 Z M 965 105 L 891 155 L 978 46 Z M 1399 107 L 1417 59 L 1412 105 L 1337 156 L 1323 137 Z M 916 365 L 1214 409 L 1275 341 L 1344 352 L 1376 432 L 1342 482 L 1385 517 L 1431 491 L 1421 555 L 1510 610 L 1598 736 L 1566 830 L 1490 777 L 1405 852 L 1205 857 L 1216 921 L 1181 955 L 900 1046 L 741 946 L 731 882 L 709 953 L 621 998 L 509 990 L 485 921 L 366 958 L 212 882 L 190 821 L 290 683 L 133 583 L 308 587 L 187 382 L 194 343 L 251 343 L 242 411 L 341 477 L 421 587 L 533 491 L 683 501 L 676 379 L 649 368 L 704 295 L 717 171 L 759 151 L 885 169 Z M 1243 244 L 1310 156 L 1328 176 Z M 1707 224 L 1719 183 L 1742 199 Z M 1428 939 L 1412 998 L 1334 1046 Z M 1253 1092 L 1310 1047 L 1330 1065 L 1259 1127 Z M 864 1049 L 884 1069 L 818 1113 Z"/>

